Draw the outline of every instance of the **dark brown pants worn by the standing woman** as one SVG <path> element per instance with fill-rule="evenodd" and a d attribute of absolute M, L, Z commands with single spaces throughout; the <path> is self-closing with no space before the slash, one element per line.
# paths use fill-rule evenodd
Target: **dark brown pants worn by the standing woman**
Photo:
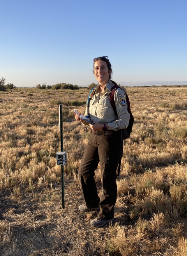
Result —
<path fill-rule="evenodd" d="M 112 135 L 103 136 L 90 132 L 90 139 L 79 167 L 79 180 L 86 206 L 95 208 L 99 204 L 100 219 L 114 217 L 117 198 L 116 169 L 122 158 L 122 147 L 121 130 L 113 132 Z M 94 180 L 94 172 L 99 162 L 103 192 L 101 199 L 98 197 Z"/>

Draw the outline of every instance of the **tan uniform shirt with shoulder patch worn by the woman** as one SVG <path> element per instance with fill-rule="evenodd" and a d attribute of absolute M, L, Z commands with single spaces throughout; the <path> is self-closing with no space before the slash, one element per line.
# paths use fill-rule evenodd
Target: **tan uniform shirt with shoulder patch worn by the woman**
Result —
<path fill-rule="evenodd" d="M 114 94 L 114 101 L 116 105 L 116 111 L 118 114 L 118 120 L 115 116 L 113 107 L 109 100 L 109 92 L 113 87 L 112 82 L 109 80 L 104 91 L 99 96 L 99 86 L 96 87 L 96 91 L 92 100 L 90 100 L 90 117 L 93 121 L 100 124 L 108 124 L 108 130 L 117 131 L 119 129 L 127 128 L 129 125 L 130 114 L 127 111 L 127 101 L 125 100 L 125 93 L 122 89 L 117 88 Z M 88 107 L 86 107 L 85 116 L 88 115 Z M 87 124 L 87 123 L 86 123 Z"/>

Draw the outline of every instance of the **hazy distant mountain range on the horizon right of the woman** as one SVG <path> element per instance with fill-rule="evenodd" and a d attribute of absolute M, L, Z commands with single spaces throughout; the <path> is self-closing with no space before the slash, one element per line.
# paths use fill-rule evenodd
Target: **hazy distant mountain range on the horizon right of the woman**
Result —
<path fill-rule="evenodd" d="M 118 84 L 123 85 L 123 86 L 151 86 L 151 85 L 186 85 L 187 81 L 143 81 L 143 82 L 118 82 Z"/>

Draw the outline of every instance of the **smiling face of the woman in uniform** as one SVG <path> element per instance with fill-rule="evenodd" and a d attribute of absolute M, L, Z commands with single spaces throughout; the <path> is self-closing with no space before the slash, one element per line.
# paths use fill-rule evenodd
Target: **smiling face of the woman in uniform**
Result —
<path fill-rule="evenodd" d="M 107 64 L 104 60 L 97 60 L 94 63 L 94 75 L 99 84 L 108 82 L 111 70 L 108 70 Z"/>

